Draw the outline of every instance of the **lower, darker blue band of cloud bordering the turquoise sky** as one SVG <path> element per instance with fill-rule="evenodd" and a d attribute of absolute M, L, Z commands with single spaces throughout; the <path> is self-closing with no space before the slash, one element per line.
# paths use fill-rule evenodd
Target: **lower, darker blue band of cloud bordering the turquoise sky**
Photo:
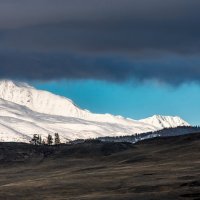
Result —
<path fill-rule="evenodd" d="M 77 56 L 63 53 L 1 53 L 0 68 L 4 78 L 26 80 L 97 79 L 114 82 L 155 80 L 179 85 L 199 81 L 198 57 L 162 59 L 124 59 Z M 12 55 L 12 60 L 10 56 Z M 15 67 L 13 67 L 15 66 Z"/>

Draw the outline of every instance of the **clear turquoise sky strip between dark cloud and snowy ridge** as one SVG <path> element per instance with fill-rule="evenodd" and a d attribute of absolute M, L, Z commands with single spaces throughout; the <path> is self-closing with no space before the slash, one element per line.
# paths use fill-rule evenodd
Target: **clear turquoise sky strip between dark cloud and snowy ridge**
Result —
<path fill-rule="evenodd" d="M 72 99 L 79 107 L 96 113 L 112 113 L 133 119 L 154 114 L 178 115 L 200 124 L 200 86 L 178 87 L 160 83 L 110 83 L 94 80 L 33 82 L 36 88 Z"/>

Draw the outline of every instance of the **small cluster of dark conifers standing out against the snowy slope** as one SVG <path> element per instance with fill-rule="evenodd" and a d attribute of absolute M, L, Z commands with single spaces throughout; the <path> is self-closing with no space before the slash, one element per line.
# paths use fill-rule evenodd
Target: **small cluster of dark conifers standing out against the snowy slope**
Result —
<path fill-rule="evenodd" d="M 34 134 L 30 143 L 33 145 L 59 145 L 61 144 L 61 141 L 58 133 L 54 134 L 54 139 L 51 134 L 48 134 L 46 140 L 42 139 L 41 135 Z"/>

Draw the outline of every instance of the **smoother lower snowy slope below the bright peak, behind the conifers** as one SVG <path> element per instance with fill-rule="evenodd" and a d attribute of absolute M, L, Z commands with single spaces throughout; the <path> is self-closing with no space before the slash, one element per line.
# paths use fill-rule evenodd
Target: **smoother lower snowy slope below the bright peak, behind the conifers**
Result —
<path fill-rule="evenodd" d="M 156 130 L 156 127 L 142 122 L 135 121 L 129 125 L 127 124 L 96 122 L 81 118 L 47 115 L 0 99 L 1 141 L 27 142 L 35 133 L 46 137 L 48 133 L 53 134 L 58 132 L 61 139 L 66 141 L 67 139 L 86 139 L 106 135 L 129 135 L 136 132 L 141 133 L 148 130 Z"/>

